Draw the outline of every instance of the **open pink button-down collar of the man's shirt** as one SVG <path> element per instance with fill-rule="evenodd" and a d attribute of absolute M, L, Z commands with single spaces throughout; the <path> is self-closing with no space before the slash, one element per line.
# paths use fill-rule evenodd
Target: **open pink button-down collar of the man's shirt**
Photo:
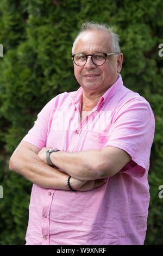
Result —
<path fill-rule="evenodd" d="M 103 94 L 103 96 L 99 99 L 98 103 L 97 103 L 97 107 L 99 105 L 104 105 L 104 103 L 106 101 L 108 101 L 112 96 L 114 96 L 118 90 L 120 90 L 123 87 L 123 81 L 122 81 L 122 76 L 120 74 L 118 74 L 118 78 L 115 81 L 114 84 L 112 84 L 112 86 L 109 87 L 108 90 L 106 90 L 106 92 Z M 72 97 L 72 101 L 74 104 L 76 104 L 79 101 L 82 101 L 82 95 L 83 95 L 83 88 L 79 87 L 79 89 L 73 93 Z"/>

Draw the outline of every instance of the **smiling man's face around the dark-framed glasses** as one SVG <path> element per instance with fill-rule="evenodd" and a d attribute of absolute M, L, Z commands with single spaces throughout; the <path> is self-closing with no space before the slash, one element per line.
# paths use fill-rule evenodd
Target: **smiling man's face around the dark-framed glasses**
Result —
<path fill-rule="evenodd" d="M 110 53 L 110 38 L 106 32 L 87 31 L 77 41 L 74 53 L 93 54 L 97 52 Z M 85 92 L 101 93 L 108 89 L 117 79 L 123 62 L 123 54 L 108 56 L 106 62 L 97 66 L 91 56 L 84 66 L 74 64 L 74 75 Z"/>

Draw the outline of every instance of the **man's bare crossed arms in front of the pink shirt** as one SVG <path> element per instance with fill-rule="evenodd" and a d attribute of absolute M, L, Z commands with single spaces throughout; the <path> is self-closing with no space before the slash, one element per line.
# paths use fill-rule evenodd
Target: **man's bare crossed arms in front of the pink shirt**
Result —
<path fill-rule="evenodd" d="M 40 150 L 22 141 L 11 156 L 9 168 L 36 185 L 61 190 L 69 190 L 67 178 L 71 175 L 71 186 L 87 191 L 103 185 L 105 178 L 115 175 L 131 160 L 126 151 L 115 147 L 75 153 L 57 151 L 51 153 L 51 161 L 58 170 L 46 162 L 48 149 Z"/>

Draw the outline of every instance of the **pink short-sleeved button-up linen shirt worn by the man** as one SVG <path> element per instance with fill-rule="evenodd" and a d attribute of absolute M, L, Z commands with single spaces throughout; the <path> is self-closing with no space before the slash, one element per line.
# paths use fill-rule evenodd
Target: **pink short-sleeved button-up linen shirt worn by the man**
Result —
<path fill-rule="evenodd" d="M 68 152 L 117 147 L 132 160 L 103 186 L 87 192 L 34 184 L 26 245 L 143 245 L 154 137 L 152 109 L 142 96 L 123 86 L 119 75 L 80 123 L 82 93 L 80 87 L 49 101 L 23 141 Z"/>

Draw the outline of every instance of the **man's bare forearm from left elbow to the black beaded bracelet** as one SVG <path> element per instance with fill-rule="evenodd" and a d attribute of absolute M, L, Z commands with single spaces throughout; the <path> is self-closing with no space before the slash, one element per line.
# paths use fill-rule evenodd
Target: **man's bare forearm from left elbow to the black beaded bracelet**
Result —
<path fill-rule="evenodd" d="M 10 160 L 10 169 L 44 188 L 68 190 L 68 175 L 43 162 L 34 152 L 17 152 Z"/>

